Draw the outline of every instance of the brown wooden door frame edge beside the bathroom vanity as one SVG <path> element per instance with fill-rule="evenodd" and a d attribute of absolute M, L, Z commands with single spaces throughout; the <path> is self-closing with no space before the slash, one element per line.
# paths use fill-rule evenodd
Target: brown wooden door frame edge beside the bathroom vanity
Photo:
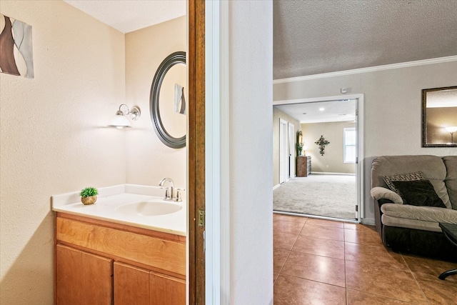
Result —
<path fill-rule="evenodd" d="M 205 304 L 205 1 L 189 0 L 189 304 Z"/>

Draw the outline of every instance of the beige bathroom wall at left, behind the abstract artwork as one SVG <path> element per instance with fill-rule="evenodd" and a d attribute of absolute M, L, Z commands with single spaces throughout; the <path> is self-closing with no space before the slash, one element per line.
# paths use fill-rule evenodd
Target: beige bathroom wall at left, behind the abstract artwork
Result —
<path fill-rule="evenodd" d="M 50 196 L 125 182 L 124 34 L 64 1 L 5 1 L 33 26 L 34 79 L 0 74 L 3 304 L 53 304 Z"/>

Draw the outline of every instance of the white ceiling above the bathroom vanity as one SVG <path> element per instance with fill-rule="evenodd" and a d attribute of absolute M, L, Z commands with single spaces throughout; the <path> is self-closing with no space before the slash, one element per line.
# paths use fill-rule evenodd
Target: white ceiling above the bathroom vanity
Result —
<path fill-rule="evenodd" d="M 123 33 L 186 15 L 185 0 L 64 0 Z"/>

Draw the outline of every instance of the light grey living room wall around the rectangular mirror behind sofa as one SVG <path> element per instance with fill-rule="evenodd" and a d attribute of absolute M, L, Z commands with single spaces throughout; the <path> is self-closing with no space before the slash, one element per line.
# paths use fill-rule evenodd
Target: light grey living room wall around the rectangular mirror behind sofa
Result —
<path fill-rule="evenodd" d="M 421 90 L 455 86 L 457 61 L 331 76 L 273 84 L 273 99 L 306 99 L 364 94 L 365 217 L 374 219 L 370 197 L 371 161 L 376 156 L 403 154 L 457 155 L 457 149 L 421 147 Z"/>

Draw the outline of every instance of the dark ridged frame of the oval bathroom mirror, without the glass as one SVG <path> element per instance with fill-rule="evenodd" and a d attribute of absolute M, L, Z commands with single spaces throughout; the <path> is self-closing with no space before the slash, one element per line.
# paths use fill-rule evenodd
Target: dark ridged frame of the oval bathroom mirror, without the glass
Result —
<path fill-rule="evenodd" d="M 166 146 L 169 146 L 173 149 L 180 149 L 186 146 L 186 134 L 184 134 L 184 136 L 181 136 L 181 138 L 175 138 L 174 136 L 171 136 L 166 131 L 166 127 L 162 123 L 159 111 L 160 89 L 162 81 L 164 81 L 166 72 L 168 72 L 169 69 L 171 69 L 171 67 L 176 64 L 186 64 L 186 52 L 174 52 L 167 56 L 166 59 L 164 59 L 164 61 L 162 61 L 162 63 L 160 64 L 151 85 L 149 109 L 151 110 L 152 125 L 154 126 L 154 131 L 156 131 L 156 134 L 157 136 L 159 136 L 159 139 Z"/>

